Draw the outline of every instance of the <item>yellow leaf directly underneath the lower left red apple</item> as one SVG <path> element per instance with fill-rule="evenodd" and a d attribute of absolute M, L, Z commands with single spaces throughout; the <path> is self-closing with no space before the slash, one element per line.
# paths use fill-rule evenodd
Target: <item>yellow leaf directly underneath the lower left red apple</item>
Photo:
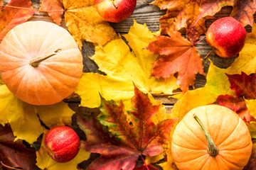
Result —
<path fill-rule="evenodd" d="M 46 134 L 46 132 L 45 132 Z M 44 136 L 43 136 L 44 139 Z M 43 141 L 43 140 L 42 140 Z M 80 149 L 78 154 L 70 160 L 69 162 L 65 163 L 58 163 L 55 162 L 46 152 L 44 149 L 44 143 L 42 142 L 40 149 L 36 152 L 36 165 L 40 169 L 47 169 L 47 170 L 70 170 L 70 169 L 77 169 L 77 166 L 82 161 L 85 161 L 90 158 L 90 152 L 86 152 L 85 149 Z"/>

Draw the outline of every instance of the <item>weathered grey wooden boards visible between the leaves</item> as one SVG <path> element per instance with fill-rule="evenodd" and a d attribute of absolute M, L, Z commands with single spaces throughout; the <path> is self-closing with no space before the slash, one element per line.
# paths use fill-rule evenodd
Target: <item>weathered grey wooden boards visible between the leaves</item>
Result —
<path fill-rule="evenodd" d="M 160 10 L 159 7 L 154 6 L 150 4 L 154 0 L 138 0 L 137 1 L 137 6 L 134 10 L 134 13 L 132 13 L 132 16 L 127 18 L 125 21 L 122 21 L 120 23 L 110 23 L 110 25 L 114 28 L 114 30 L 117 33 L 125 34 L 128 33 L 130 26 L 133 25 L 134 19 L 137 21 L 137 23 L 144 24 L 146 23 L 146 26 L 151 30 L 152 32 L 156 32 L 159 30 L 159 18 L 166 13 L 164 10 Z M 33 8 L 38 9 L 40 7 L 40 0 L 32 0 L 33 3 Z M 223 8 L 223 11 L 221 13 L 221 16 L 228 16 L 231 11 L 232 7 L 228 6 Z M 220 13 L 216 13 L 215 17 L 218 18 Z M 53 20 L 48 16 L 48 13 L 46 12 L 36 12 L 34 16 L 30 19 L 30 21 L 49 21 L 53 22 Z M 206 30 L 208 26 L 210 26 L 211 23 L 213 23 L 214 20 L 208 20 L 206 21 Z M 65 21 L 63 18 L 63 21 L 61 22 L 61 26 L 63 28 L 66 28 L 65 26 Z M 67 29 L 67 28 L 66 28 Z M 250 26 L 246 27 L 247 31 L 250 32 L 251 28 Z M 181 33 L 184 35 L 184 30 L 181 30 Z M 203 38 L 203 35 L 201 36 Z M 201 55 L 201 57 L 205 57 L 208 52 L 210 52 L 211 47 L 207 44 L 206 39 L 203 39 L 201 42 L 199 42 L 196 45 L 196 48 L 198 50 L 198 54 Z M 94 54 L 94 46 L 90 42 L 83 42 L 83 47 L 82 47 L 82 55 L 83 55 L 83 63 L 84 63 L 84 72 L 97 72 L 97 65 L 90 60 L 90 56 Z M 227 68 L 230 66 L 230 64 L 235 60 L 235 57 L 228 58 L 228 59 L 223 59 L 221 57 L 218 57 L 215 55 L 213 52 L 210 57 L 208 57 L 213 64 L 220 68 Z M 204 72 L 207 74 L 208 72 L 208 67 L 210 65 L 209 60 L 203 60 L 203 65 L 204 65 Z M 196 84 L 195 88 L 199 88 L 202 86 L 205 86 L 206 84 L 206 77 L 203 77 L 202 75 L 198 75 L 196 77 Z M 171 108 L 173 107 L 174 103 L 176 102 L 175 98 L 170 98 L 169 96 L 155 96 L 157 100 L 161 100 L 165 105 L 166 105 L 166 112 L 171 113 Z M 68 103 L 70 103 L 70 106 L 75 110 L 75 111 L 80 111 L 81 108 L 78 108 L 79 99 L 78 98 L 73 98 L 66 100 Z"/>

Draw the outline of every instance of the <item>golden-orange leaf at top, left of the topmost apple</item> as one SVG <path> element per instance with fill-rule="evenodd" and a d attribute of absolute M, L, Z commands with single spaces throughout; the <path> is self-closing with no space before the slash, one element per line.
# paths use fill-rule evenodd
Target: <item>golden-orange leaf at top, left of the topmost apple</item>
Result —
<path fill-rule="evenodd" d="M 100 17 L 94 0 L 63 0 L 65 23 L 73 38 L 82 48 L 82 41 L 102 47 L 106 42 L 119 38 L 110 24 Z"/>

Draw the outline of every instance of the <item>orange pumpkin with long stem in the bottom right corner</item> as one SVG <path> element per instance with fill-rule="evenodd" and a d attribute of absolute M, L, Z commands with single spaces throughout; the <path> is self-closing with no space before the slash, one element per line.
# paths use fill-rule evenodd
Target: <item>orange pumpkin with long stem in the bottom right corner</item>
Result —
<path fill-rule="evenodd" d="M 176 126 L 171 153 L 178 169 L 242 169 L 252 152 L 244 121 L 224 106 L 200 106 Z"/>

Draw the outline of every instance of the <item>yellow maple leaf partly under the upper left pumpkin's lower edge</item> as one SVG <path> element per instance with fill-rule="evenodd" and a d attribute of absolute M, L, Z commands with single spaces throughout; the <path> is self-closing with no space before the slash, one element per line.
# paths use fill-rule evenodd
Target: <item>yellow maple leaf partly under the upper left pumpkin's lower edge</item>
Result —
<path fill-rule="evenodd" d="M 35 142 L 43 133 L 43 121 L 48 128 L 70 125 L 74 112 L 64 102 L 50 106 L 33 106 L 18 99 L 6 85 L 0 86 L 0 124 L 9 123 L 15 140 Z M 40 119 L 39 119 L 40 118 Z"/>

